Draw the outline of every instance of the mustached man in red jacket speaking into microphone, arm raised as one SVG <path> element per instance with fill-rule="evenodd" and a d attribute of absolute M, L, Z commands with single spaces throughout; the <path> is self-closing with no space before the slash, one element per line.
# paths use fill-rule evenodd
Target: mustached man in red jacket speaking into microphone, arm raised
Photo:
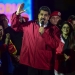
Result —
<path fill-rule="evenodd" d="M 50 9 L 42 6 L 39 9 L 38 20 L 19 22 L 19 16 L 24 8 L 21 4 L 12 16 L 11 27 L 23 32 L 20 64 L 27 66 L 27 75 L 54 75 L 54 57 L 58 46 L 53 25 L 50 25 Z M 24 75 L 24 74 L 22 74 Z"/>

